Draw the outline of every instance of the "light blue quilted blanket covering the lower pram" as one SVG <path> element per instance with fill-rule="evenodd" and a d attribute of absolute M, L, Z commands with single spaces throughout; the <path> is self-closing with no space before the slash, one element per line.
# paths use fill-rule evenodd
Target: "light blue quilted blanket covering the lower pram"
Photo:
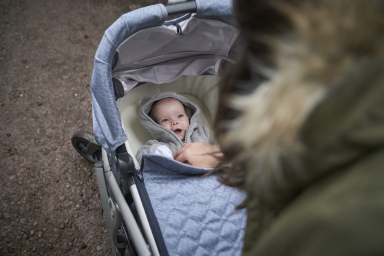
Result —
<path fill-rule="evenodd" d="M 169 255 L 241 255 L 244 191 L 224 186 L 209 169 L 145 154 L 142 175 Z"/>

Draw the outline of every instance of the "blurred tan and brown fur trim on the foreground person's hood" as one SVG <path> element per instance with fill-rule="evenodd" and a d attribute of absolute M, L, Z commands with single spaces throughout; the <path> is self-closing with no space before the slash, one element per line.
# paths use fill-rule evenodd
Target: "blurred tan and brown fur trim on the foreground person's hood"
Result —
<path fill-rule="evenodd" d="M 260 67 L 257 52 L 248 47 L 248 66 L 264 70 L 267 79 L 248 95 L 222 95 L 220 107 L 242 114 L 217 124 L 224 152 L 237 148 L 229 156 L 233 165 L 244 167 L 248 186 L 277 209 L 318 174 L 303 168 L 303 122 L 352 65 L 384 45 L 382 6 L 361 0 L 292 2 L 275 6 L 290 21 L 286 31 L 277 36 L 248 31 L 249 45 L 270 47 L 275 68 Z"/>

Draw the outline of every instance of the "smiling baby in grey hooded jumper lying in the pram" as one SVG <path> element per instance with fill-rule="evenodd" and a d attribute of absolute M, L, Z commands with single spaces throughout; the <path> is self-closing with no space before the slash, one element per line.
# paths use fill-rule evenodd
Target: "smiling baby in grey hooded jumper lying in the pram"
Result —
<path fill-rule="evenodd" d="M 138 162 L 141 162 L 144 151 L 173 158 L 186 143 L 213 143 L 212 131 L 208 127 L 198 127 L 198 106 L 174 92 L 143 98 L 139 114 L 142 126 L 153 140 L 138 149 Z"/>

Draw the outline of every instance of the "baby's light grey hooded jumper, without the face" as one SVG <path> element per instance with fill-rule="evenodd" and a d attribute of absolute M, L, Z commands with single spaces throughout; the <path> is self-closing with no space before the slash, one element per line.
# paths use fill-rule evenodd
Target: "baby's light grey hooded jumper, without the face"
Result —
<path fill-rule="evenodd" d="M 186 130 L 184 142 L 178 138 L 178 136 L 171 130 L 166 129 L 153 120 L 149 113 L 153 105 L 163 98 L 175 98 L 179 100 L 186 109 L 186 114 L 190 116 L 189 127 Z M 156 148 L 160 145 L 169 147 L 172 151 L 172 156 L 186 143 L 191 142 L 204 142 L 207 144 L 213 143 L 213 133 L 209 127 L 198 127 L 198 118 L 200 109 L 195 103 L 191 102 L 184 96 L 176 94 L 175 92 L 163 92 L 157 96 L 151 98 L 143 98 L 142 106 L 139 111 L 140 123 L 152 136 L 153 140 L 149 140 L 147 144 L 138 149 L 136 153 L 136 159 L 138 162 L 142 160 L 142 153 L 154 153 Z"/>

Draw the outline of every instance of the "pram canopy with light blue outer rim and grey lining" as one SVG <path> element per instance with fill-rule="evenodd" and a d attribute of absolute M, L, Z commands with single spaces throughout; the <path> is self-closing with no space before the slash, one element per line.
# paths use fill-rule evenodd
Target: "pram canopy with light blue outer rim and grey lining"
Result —
<path fill-rule="evenodd" d="M 105 31 L 94 59 L 91 90 L 94 135 L 108 154 L 127 140 L 112 78 L 127 92 L 141 82 L 160 84 L 180 76 L 217 74 L 220 61 L 228 56 L 236 31 L 224 33 L 231 28 L 224 28 L 224 23 L 231 23 L 232 1 L 196 0 L 196 6 L 196 14 L 171 21 L 165 21 L 162 4 L 147 6 L 123 14 Z M 175 36 L 180 29 L 183 34 Z"/>

